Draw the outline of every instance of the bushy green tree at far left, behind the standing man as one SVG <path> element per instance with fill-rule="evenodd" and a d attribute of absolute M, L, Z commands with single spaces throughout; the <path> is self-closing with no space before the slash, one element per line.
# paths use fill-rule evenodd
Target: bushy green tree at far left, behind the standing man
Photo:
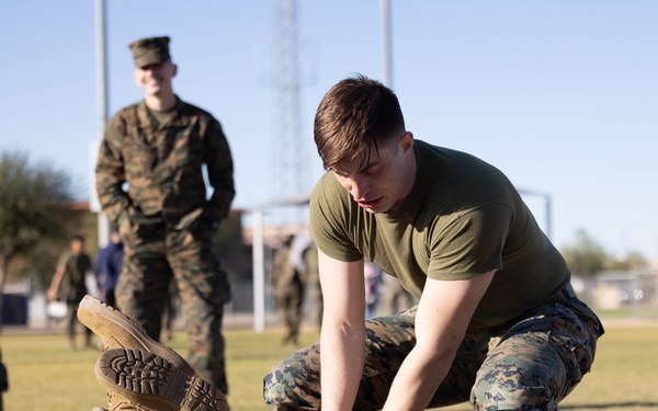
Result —
<path fill-rule="evenodd" d="M 46 163 L 32 164 L 19 151 L 0 153 L 0 326 L 2 297 L 11 263 L 42 241 L 60 238 L 64 221 L 56 210 L 72 198 L 67 173 Z"/>

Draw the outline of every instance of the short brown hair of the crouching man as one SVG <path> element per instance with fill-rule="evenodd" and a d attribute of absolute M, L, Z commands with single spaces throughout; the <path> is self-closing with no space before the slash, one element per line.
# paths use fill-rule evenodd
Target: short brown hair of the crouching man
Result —
<path fill-rule="evenodd" d="M 395 93 L 361 75 L 333 85 L 315 116 L 315 142 L 326 170 L 352 161 L 371 148 L 377 150 L 381 142 L 405 132 Z"/>

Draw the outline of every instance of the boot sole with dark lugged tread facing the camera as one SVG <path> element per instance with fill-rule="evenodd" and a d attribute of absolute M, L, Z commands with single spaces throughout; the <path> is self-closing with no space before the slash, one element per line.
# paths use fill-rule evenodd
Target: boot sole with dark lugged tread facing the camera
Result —
<path fill-rule="evenodd" d="M 97 379 L 133 403 L 161 411 L 228 411 L 226 397 L 209 383 L 139 350 L 107 350 L 97 361 Z"/>

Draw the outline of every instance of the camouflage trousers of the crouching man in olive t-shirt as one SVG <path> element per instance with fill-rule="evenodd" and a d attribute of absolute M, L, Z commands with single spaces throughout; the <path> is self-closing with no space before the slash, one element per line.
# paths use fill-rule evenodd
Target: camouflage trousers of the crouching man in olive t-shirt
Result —
<path fill-rule="evenodd" d="M 572 292 L 512 323 L 468 330 L 428 408 L 469 401 L 475 410 L 557 410 L 594 359 L 603 328 Z M 366 320 L 366 357 L 354 410 L 379 410 L 416 344 L 416 307 Z M 264 378 L 271 410 L 319 410 L 319 344 L 280 362 Z"/>

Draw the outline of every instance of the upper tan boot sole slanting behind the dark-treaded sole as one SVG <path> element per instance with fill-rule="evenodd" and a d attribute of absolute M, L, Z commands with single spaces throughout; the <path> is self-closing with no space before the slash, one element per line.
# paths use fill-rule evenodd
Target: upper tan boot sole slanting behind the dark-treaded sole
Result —
<path fill-rule="evenodd" d="M 90 295 L 82 298 L 78 307 L 78 319 L 103 340 L 105 350 L 148 351 L 188 374 L 195 374 L 194 368 L 175 351 L 148 336 L 146 330 L 135 320 L 98 298 Z"/>

